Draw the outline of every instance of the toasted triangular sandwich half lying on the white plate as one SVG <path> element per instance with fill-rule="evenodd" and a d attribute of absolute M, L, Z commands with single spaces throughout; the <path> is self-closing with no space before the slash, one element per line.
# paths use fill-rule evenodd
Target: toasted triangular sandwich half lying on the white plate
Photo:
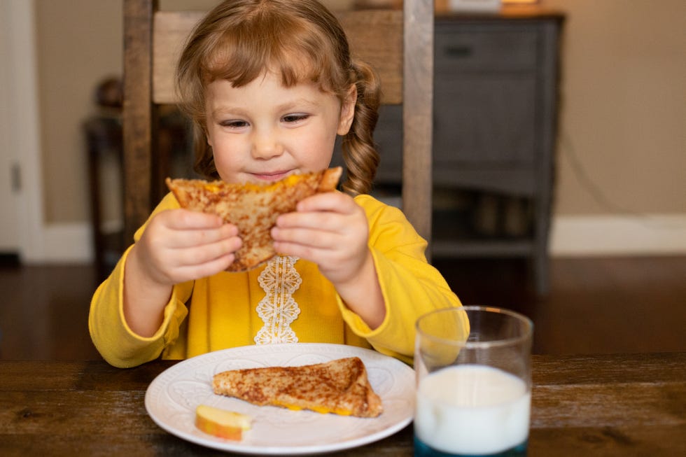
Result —
<path fill-rule="evenodd" d="M 221 372 L 214 375 L 212 387 L 218 395 L 259 406 L 358 417 L 376 417 L 383 412 L 381 398 L 374 393 L 358 357 L 316 365 Z"/>

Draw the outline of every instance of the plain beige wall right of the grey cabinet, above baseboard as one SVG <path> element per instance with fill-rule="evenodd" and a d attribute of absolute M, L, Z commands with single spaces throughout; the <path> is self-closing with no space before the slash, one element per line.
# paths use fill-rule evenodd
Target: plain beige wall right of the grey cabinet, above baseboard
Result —
<path fill-rule="evenodd" d="M 568 12 L 557 212 L 685 212 L 686 2 L 545 4 Z"/>

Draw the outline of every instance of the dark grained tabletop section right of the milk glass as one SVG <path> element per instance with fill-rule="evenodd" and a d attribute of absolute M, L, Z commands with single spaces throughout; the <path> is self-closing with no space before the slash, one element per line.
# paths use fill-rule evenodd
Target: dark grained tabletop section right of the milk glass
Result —
<path fill-rule="evenodd" d="M 534 356 L 529 455 L 686 455 L 686 354 Z"/>

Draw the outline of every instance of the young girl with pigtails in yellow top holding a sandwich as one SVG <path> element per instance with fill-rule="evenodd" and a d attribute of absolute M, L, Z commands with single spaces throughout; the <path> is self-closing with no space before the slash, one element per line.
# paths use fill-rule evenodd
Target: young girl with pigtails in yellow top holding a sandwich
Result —
<path fill-rule="evenodd" d="M 228 0 L 198 24 L 177 69 L 208 178 L 268 183 L 329 166 L 343 136 L 345 192 L 303 200 L 272 230 L 267 265 L 224 270 L 234 225 L 169 194 L 96 290 L 90 335 L 112 365 L 234 346 L 326 342 L 412 360 L 414 321 L 460 306 L 402 213 L 367 195 L 379 83 L 316 0 Z"/>

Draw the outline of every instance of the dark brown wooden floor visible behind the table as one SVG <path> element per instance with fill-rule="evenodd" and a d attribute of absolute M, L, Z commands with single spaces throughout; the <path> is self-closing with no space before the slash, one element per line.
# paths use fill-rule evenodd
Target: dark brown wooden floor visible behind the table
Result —
<path fill-rule="evenodd" d="M 464 304 L 535 325 L 534 353 L 686 351 L 686 257 L 553 259 L 537 297 L 524 260 L 436 260 Z M 87 331 L 90 265 L 0 266 L 0 359 L 99 358 Z"/>

